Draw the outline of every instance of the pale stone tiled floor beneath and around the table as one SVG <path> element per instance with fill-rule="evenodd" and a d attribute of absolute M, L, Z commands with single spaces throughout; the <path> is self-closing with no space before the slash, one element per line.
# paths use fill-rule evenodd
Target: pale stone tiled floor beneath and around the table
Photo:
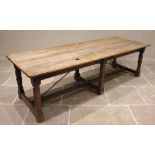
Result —
<path fill-rule="evenodd" d="M 135 61 L 120 63 L 136 66 Z M 96 76 L 98 67 L 84 68 L 82 75 Z M 110 65 L 106 68 L 106 72 L 113 70 Z M 44 80 L 41 92 L 60 77 Z M 31 97 L 31 83 L 25 75 L 23 79 L 26 94 Z M 77 84 L 72 72 L 50 94 L 52 98 L 43 102 L 45 121 L 41 124 L 155 124 L 155 60 L 143 62 L 139 78 L 122 73 L 106 81 L 105 93 L 100 96 Z M 38 124 L 18 99 L 14 70 L 5 58 L 0 58 L 0 124 Z"/>

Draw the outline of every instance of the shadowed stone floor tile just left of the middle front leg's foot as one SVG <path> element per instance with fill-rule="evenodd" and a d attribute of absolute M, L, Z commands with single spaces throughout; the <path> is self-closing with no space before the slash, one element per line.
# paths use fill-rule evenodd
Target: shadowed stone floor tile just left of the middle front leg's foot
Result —
<path fill-rule="evenodd" d="M 105 105 L 107 100 L 104 95 L 98 95 L 90 88 L 81 87 L 63 94 L 63 105 Z"/>

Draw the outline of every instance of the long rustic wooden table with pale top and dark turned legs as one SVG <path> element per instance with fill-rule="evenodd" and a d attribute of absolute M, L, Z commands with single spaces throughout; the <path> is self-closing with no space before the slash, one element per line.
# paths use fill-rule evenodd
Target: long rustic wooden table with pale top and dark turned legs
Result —
<path fill-rule="evenodd" d="M 27 104 L 37 121 L 41 122 L 44 120 L 40 94 L 41 80 L 75 70 L 75 80 L 85 81 L 80 76 L 79 69 L 99 63 L 100 74 L 96 90 L 98 94 L 102 94 L 104 92 L 106 61 L 113 59 L 112 65 L 114 68 L 123 68 L 126 71 L 134 73 L 135 76 L 140 76 L 143 53 L 148 46 L 150 45 L 120 37 L 112 37 L 36 51 L 18 52 L 8 55 L 7 58 L 15 67 L 19 98 Z M 117 57 L 135 52 L 139 52 L 136 70 L 117 63 Z M 21 72 L 31 80 L 34 93 L 33 102 L 30 102 L 25 96 Z M 90 83 L 88 84 L 93 86 Z"/>

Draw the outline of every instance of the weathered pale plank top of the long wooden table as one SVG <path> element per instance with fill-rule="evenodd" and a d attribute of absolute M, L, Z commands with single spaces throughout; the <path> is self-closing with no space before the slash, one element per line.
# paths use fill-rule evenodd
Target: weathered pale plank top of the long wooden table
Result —
<path fill-rule="evenodd" d="M 42 50 L 18 52 L 8 55 L 7 58 L 32 78 L 148 46 L 149 44 L 112 37 Z"/>

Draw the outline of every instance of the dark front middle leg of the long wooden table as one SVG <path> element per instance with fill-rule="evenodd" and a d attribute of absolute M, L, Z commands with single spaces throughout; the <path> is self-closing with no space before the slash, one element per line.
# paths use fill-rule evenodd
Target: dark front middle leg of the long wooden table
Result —
<path fill-rule="evenodd" d="M 104 93 L 104 76 L 105 76 L 105 60 L 102 60 L 100 62 L 100 74 L 99 74 L 99 85 L 98 85 L 99 95 Z"/>

